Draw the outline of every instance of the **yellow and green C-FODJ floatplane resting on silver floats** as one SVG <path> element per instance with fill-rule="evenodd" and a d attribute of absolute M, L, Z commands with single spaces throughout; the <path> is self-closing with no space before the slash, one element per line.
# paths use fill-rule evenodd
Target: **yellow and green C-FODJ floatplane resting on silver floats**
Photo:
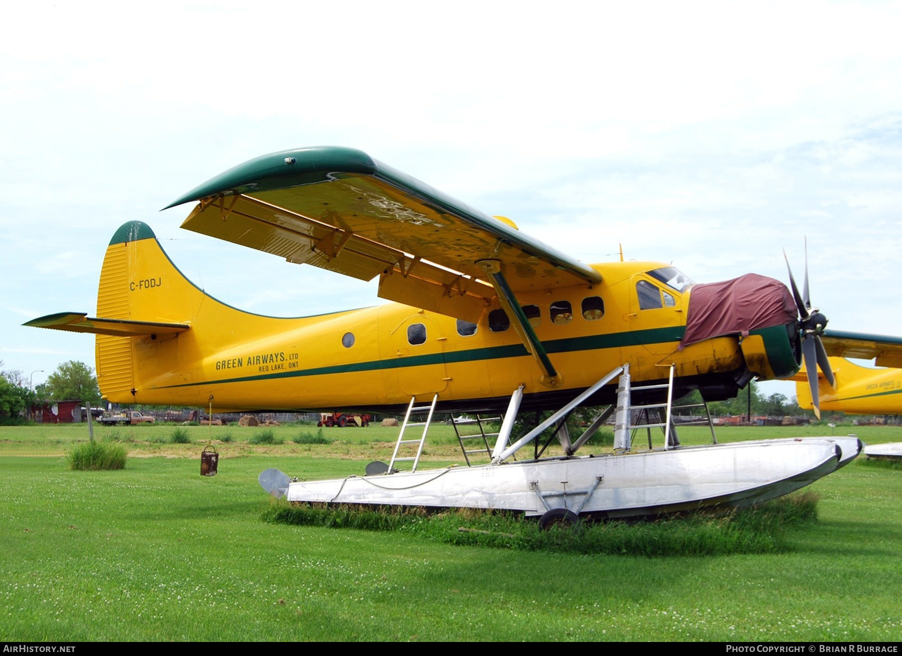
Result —
<path fill-rule="evenodd" d="M 249 314 L 193 285 L 144 223 L 106 251 L 97 316 L 28 325 L 97 333 L 97 379 L 115 403 L 218 410 L 342 407 L 403 413 L 504 410 L 492 462 L 339 481 L 262 483 L 295 501 L 504 507 L 529 515 L 637 515 L 785 494 L 857 455 L 855 441 L 747 442 L 633 451 L 630 407 L 692 389 L 735 396 L 802 360 L 832 379 L 827 343 L 898 357 L 902 340 L 825 333 L 804 292 L 749 274 L 695 285 L 660 262 L 588 265 L 360 150 L 307 148 L 252 159 L 169 205 L 182 227 L 353 278 L 379 278 L 388 305 L 300 318 Z M 816 389 L 816 373 L 813 380 Z M 816 393 L 815 393 L 816 398 Z M 607 415 L 571 440 L 576 405 L 617 407 L 615 453 L 576 456 Z M 666 401 L 666 403 L 662 403 Z M 515 442 L 520 410 L 559 408 Z M 566 424 L 564 424 L 566 426 Z M 566 455 L 511 462 L 548 426 Z M 405 441 L 399 438 L 395 447 Z M 852 443 L 854 442 L 854 443 Z M 463 473 L 462 473 L 463 472 Z M 265 479 L 265 481 L 264 481 Z M 373 481 L 378 481 L 376 484 Z M 547 513 L 546 513 L 547 514 Z"/>

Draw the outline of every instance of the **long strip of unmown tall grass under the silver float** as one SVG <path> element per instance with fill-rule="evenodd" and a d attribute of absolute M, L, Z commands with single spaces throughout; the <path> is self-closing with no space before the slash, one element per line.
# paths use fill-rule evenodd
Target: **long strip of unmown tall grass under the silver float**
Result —
<path fill-rule="evenodd" d="M 522 514 L 458 509 L 429 515 L 422 508 L 388 506 L 272 506 L 262 519 L 373 531 L 404 531 L 435 542 L 518 551 L 627 556 L 708 556 L 772 553 L 786 548 L 787 530 L 814 522 L 817 496 L 796 494 L 741 510 L 698 511 L 632 521 L 583 521 L 548 531 Z"/>

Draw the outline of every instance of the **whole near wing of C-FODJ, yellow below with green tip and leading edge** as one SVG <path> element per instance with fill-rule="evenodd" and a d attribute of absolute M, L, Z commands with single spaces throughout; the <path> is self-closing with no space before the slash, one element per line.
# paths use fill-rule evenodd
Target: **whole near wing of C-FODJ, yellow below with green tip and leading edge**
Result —
<path fill-rule="evenodd" d="M 399 273 L 423 290 L 444 287 L 446 296 L 492 296 L 477 280 L 486 280 L 477 260 L 499 260 L 514 292 L 601 281 L 592 267 L 360 150 L 264 155 L 169 207 L 189 201 L 200 201 L 182 224 L 189 230 L 355 278 Z M 388 287 L 410 303 L 397 283 Z"/>

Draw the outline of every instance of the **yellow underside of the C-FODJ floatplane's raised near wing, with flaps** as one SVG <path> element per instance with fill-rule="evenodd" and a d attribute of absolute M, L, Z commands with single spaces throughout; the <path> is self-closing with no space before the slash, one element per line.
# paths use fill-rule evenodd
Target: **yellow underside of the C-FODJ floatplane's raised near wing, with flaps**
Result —
<path fill-rule="evenodd" d="M 500 261 L 515 293 L 586 283 L 538 250 L 365 175 L 208 196 L 182 227 L 361 280 L 381 276 L 382 298 L 472 322 L 495 295 L 478 279 L 479 260 Z"/>

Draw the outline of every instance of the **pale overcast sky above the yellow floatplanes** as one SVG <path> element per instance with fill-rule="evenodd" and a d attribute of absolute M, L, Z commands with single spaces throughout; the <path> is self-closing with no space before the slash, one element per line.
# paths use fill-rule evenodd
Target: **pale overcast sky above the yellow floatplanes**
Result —
<path fill-rule="evenodd" d="M 297 316 L 375 284 L 179 230 L 190 188 L 359 148 L 575 257 L 801 283 L 833 328 L 902 333 L 897 2 L 19 3 L 0 40 L 0 360 L 93 366 L 115 229 L 151 225 L 220 300 Z M 771 391 L 792 396 L 778 383 Z"/>

